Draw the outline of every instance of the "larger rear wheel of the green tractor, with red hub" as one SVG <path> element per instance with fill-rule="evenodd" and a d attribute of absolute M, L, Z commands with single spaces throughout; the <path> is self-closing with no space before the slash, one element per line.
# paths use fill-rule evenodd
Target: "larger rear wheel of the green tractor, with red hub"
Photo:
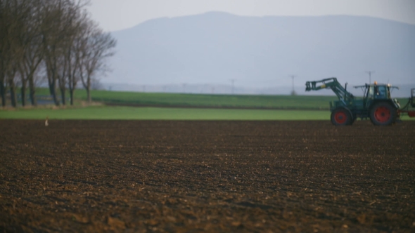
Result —
<path fill-rule="evenodd" d="M 370 110 L 370 119 L 375 126 L 389 126 L 395 123 L 396 109 L 388 102 L 378 102 Z"/>

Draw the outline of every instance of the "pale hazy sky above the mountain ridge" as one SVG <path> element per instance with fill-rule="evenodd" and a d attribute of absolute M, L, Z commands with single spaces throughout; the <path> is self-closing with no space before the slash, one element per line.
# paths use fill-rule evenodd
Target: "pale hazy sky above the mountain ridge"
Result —
<path fill-rule="evenodd" d="M 366 15 L 415 25 L 415 0 L 91 0 L 106 31 L 161 17 L 224 11 L 236 15 Z"/>

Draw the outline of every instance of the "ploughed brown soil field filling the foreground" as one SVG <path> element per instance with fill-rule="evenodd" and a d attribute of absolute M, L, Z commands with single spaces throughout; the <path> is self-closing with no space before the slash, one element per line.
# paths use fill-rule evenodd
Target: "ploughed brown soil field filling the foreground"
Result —
<path fill-rule="evenodd" d="M 414 232 L 415 121 L 0 121 L 0 232 Z"/>

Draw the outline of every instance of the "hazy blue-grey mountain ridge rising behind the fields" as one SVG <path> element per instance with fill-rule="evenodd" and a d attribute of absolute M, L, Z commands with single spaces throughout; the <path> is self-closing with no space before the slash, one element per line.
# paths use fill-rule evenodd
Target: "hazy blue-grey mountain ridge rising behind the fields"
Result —
<path fill-rule="evenodd" d="M 414 84 L 415 25 L 359 16 L 244 17 L 211 12 L 159 18 L 113 32 L 102 81 L 257 90 L 336 76 L 343 84 Z M 284 88 L 284 89 L 286 89 Z M 195 91 L 196 92 L 196 91 Z M 408 93 L 409 95 L 409 93 Z"/>

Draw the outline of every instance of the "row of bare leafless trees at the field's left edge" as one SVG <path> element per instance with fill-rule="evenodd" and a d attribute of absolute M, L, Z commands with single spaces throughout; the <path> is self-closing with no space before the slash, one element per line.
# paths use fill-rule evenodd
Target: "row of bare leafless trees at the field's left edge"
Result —
<path fill-rule="evenodd" d="M 66 93 L 73 105 L 79 86 L 91 102 L 92 82 L 97 74 L 108 71 L 106 58 L 114 55 L 116 41 L 91 20 L 87 4 L 83 0 L 0 0 L 2 106 L 10 95 L 16 107 L 19 93 L 23 106 L 36 106 L 41 81 L 47 81 L 55 105 L 68 104 Z"/>

